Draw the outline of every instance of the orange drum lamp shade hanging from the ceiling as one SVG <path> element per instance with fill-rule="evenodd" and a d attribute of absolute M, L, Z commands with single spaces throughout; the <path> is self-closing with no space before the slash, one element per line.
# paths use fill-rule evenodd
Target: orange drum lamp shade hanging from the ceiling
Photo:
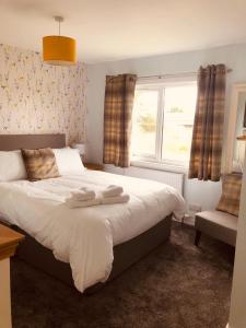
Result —
<path fill-rule="evenodd" d="M 75 65 L 75 39 L 60 35 L 43 37 L 43 59 L 49 65 Z"/>

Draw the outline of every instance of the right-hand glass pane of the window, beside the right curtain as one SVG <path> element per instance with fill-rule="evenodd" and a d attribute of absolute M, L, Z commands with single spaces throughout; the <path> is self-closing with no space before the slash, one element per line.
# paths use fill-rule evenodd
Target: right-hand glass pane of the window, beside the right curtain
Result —
<path fill-rule="evenodd" d="M 197 85 L 165 87 L 163 160 L 189 160 L 196 101 Z"/>

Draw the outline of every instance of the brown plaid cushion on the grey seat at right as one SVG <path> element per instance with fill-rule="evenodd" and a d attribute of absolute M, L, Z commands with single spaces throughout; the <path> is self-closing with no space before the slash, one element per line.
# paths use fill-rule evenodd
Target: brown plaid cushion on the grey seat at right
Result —
<path fill-rule="evenodd" d="M 216 210 L 238 216 L 241 201 L 242 174 L 223 176 L 222 196 Z"/>

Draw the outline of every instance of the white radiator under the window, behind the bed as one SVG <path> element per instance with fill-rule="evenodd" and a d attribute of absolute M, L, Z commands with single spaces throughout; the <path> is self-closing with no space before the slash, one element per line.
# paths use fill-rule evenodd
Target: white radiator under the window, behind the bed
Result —
<path fill-rule="evenodd" d="M 139 177 L 142 179 L 155 180 L 159 183 L 163 183 L 169 185 L 177 189 L 181 195 L 184 191 L 184 174 L 183 173 L 174 173 L 174 172 L 166 172 L 160 169 L 151 169 L 151 168 L 143 168 L 143 167 L 136 167 L 130 166 L 128 168 L 120 168 L 114 165 L 105 165 L 105 171 L 115 173 L 115 174 L 122 174 L 132 177 Z"/>

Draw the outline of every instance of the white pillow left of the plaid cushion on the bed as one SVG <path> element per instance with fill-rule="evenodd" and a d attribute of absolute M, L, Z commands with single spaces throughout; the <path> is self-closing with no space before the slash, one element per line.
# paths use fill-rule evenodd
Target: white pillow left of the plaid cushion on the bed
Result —
<path fill-rule="evenodd" d="M 21 151 L 0 151 L 0 181 L 12 181 L 26 178 L 27 174 Z"/>

